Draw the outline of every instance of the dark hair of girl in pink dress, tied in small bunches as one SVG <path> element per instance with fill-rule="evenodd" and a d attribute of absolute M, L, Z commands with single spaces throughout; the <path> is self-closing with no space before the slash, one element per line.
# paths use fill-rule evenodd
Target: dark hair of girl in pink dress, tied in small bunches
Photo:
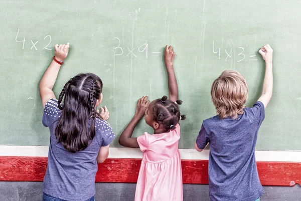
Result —
<path fill-rule="evenodd" d="M 167 96 L 156 99 L 153 106 L 153 121 L 157 122 L 166 131 L 173 130 L 179 123 L 184 120 L 185 115 L 180 114 L 179 106 L 182 101 L 173 102 L 167 99 Z"/>

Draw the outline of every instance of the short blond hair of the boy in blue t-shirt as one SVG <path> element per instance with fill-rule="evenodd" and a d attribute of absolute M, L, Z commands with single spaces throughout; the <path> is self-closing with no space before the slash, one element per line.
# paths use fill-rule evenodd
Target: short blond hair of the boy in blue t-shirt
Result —
<path fill-rule="evenodd" d="M 248 98 L 246 79 L 237 71 L 224 71 L 211 86 L 212 102 L 221 119 L 237 119 Z"/>

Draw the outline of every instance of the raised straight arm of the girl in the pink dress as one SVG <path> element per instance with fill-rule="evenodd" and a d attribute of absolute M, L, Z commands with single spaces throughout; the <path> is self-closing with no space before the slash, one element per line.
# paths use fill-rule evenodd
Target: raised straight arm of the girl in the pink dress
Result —
<path fill-rule="evenodd" d="M 179 99 L 179 90 L 173 65 L 174 58 L 175 53 L 173 47 L 166 46 L 164 51 L 164 61 L 168 76 L 169 99 L 175 102 Z"/>

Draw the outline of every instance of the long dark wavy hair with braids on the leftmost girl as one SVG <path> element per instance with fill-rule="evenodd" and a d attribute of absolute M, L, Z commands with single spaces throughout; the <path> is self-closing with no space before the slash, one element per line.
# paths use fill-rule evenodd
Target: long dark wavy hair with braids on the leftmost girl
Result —
<path fill-rule="evenodd" d="M 62 116 L 55 135 L 58 143 L 61 142 L 68 151 L 84 150 L 95 136 L 95 103 L 101 92 L 102 81 L 93 73 L 79 74 L 65 84 L 58 100 Z M 92 120 L 90 130 L 87 127 L 89 119 Z"/>

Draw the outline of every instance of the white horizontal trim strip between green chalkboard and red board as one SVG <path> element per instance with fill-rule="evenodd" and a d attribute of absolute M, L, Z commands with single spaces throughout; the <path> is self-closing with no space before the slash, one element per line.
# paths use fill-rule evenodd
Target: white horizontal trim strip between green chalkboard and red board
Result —
<path fill-rule="evenodd" d="M 48 146 L 0 145 L 0 156 L 47 157 Z M 209 150 L 197 152 L 194 149 L 180 149 L 181 158 L 187 160 L 208 160 Z M 301 151 L 255 151 L 257 161 L 301 162 Z M 142 158 L 142 152 L 133 148 L 110 147 L 109 158 Z"/>

